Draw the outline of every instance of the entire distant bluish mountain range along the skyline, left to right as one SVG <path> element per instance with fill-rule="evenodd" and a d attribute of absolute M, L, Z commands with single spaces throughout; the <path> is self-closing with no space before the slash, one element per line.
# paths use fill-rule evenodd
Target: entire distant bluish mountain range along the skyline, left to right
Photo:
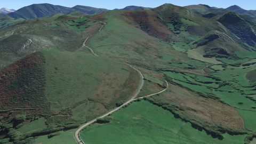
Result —
<path fill-rule="evenodd" d="M 212 17 L 213 15 L 209 15 L 209 13 L 218 13 L 218 14 L 225 14 L 228 11 L 233 11 L 239 14 L 246 14 L 250 15 L 250 17 L 256 18 L 256 11 L 255 10 L 244 10 L 241 7 L 237 5 L 233 5 L 228 7 L 227 9 L 219 9 L 217 7 L 211 7 L 209 5 L 205 4 L 199 4 L 199 5 L 189 5 L 185 6 L 190 10 L 194 10 L 196 12 L 202 13 L 202 14 L 208 14 L 205 17 Z M 115 10 L 145 10 L 145 9 L 152 9 L 149 7 L 142 7 L 142 6 L 126 6 L 123 9 L 115 9 Z M 13 9 L 9 10 L 6 8 L 0 9 L 1 14 L 6 14 L 9 17 L 12 18 L 22 18 L 22 19 L 35 19 L 35 18 L 41 18 L 46 16 L 51 16 L 56 13 L 70 13 L 72 11 L 80 11 L 85 14 L 98 14 L 102 12 L 108 11 L 107 9 L 98 9 L 95 7 L 90 6 L 82 6 L 82 5 L 76 5 L 74 7 L 65 7 L 60 5 L 52 5 L 52 4 L 33 4 L 29 6 L 22 7 L 21 9 L 15 11 Z"/>

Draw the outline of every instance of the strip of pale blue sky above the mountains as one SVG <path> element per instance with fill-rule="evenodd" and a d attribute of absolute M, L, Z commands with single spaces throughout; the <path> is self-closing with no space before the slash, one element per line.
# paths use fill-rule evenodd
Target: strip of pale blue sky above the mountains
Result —
<path fill-rule="evenodd" d="M 35 3 L 50 3 L 73 7 L 75 5 L 86 5 L 105 9 L 121 9 L 128 5 L 138 5 L 145 7 L 157 7 L 164 3 L 171 3 L 179 6 L 191 4 L 207 4 L 210 6 L 226 8 L 230 5 L 239 5 L 246 10 L 256 10 L 255 0 L 0 0 L 0 8 L 19 9 L 23 6 Z"/>

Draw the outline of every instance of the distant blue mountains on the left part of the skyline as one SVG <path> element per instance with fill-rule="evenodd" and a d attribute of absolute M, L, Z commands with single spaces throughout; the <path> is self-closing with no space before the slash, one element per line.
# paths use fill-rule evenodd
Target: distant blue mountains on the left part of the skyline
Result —
<path fill-rule="evenodd" d="M 107 9 L 97 9 L 90 6 L 77 5 L 74 7 L 65 7 L 60 5 L 52 4 L 33 4 L 22 7 L 21 9 L 8 13 L 9 17 L 12 18 L 23 18 L 23 19 L 35 19 L 46 16 L 51 16 L 56 13 L 70 13 L 72 11 L 81 11 L 85 14 L 97 14 L 108 11 Z"/>

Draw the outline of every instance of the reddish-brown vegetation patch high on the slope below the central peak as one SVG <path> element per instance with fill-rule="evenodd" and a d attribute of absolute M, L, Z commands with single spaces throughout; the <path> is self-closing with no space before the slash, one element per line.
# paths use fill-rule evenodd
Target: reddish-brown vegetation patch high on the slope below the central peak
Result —
<path fill-rule="evenodd" d="M 153 11 L 126 11 L 123 15 L 149 35 L 163 41 L 168 41 L 169 36 L 174 35 Z"/>

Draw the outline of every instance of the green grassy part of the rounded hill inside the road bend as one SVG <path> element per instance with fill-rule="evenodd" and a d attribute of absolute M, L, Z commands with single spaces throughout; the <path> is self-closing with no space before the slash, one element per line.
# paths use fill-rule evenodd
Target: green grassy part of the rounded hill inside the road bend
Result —
<path fill-rule="evenodd" d="M 117 101 L 126 101 L 139 82 L 137 71 L 129 66 L 86 52 L 46 50 L 44 55 L 45 94 L 51 110 L 66 114 L 74 109 L 75 119 L 87 121 L 115 107 Z"/>

